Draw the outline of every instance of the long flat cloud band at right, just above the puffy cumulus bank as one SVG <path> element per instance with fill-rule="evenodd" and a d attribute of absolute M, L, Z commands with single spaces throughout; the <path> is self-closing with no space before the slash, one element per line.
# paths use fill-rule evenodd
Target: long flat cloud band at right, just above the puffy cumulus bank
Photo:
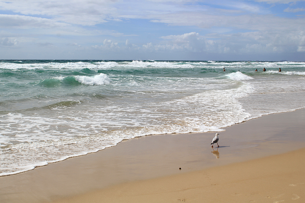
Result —
<path fill-rule="evenodd" d="M 241 30 L 298 30 L 304 19 L 281 18 L 273 15 L 209 15 L 203 12 L 171 13 L 157 16 L 152 22 L 166 23 L 172 26 L 198 26 L 204 29 L 212 27 L 231 27 Z"/>

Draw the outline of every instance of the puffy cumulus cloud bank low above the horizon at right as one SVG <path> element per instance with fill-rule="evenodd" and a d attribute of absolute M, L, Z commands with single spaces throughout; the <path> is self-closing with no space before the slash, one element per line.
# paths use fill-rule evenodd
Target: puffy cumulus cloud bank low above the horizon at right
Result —
<path fill-rule="evenodd" d="M 248 32 L 233 34 L 211 34 L 200 36 L 199 33 L 169 35 L 161 37 L 159 44 L 147 43 L 142 47 L 149 51 L 187 51 L 210 53 L 283 53 L 284 51 L 302 51 L 305 46 L 304 32 L 299 35 L 270 32 Z M 213 38 L 213 39 L 209 39 Z M 299 47 L 299 48 L 298 48 Z M 300 48 L 301 47 L 301 48 Z"/>

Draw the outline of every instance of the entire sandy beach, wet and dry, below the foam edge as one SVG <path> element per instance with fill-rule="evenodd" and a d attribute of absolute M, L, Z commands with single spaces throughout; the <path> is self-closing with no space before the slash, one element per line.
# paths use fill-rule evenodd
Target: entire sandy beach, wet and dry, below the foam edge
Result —
<path fill-rule="evenodd" d="M 305 202 L 304 124 L 305 109 L 266 115 L 213 149 L 215 132 L 126 140 L 0 177 L 0 202 Z"/>

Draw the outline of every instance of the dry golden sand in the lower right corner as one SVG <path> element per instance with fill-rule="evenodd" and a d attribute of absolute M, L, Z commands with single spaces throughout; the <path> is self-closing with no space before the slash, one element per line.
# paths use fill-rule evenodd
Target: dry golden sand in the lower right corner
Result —
<path fill-rule="evenodd" d="M 59 202 L 305 202 L 305 148 L 115 185 Z"/>

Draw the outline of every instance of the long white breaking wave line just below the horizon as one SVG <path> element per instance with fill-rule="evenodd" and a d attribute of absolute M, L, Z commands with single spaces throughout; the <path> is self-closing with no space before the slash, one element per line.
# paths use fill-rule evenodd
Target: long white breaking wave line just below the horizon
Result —
<path fill-rule="evenodd" d="M 34 62 L 34 61 L 33 61 Z M 46 61 L 45 61 L 46 62 Z M 109 69 L 109 68 L 278 68 L 305 67 L 303 62 L 271 61 L 59 61 L 49 63 L 1 62 L 0 69 Z"/>

